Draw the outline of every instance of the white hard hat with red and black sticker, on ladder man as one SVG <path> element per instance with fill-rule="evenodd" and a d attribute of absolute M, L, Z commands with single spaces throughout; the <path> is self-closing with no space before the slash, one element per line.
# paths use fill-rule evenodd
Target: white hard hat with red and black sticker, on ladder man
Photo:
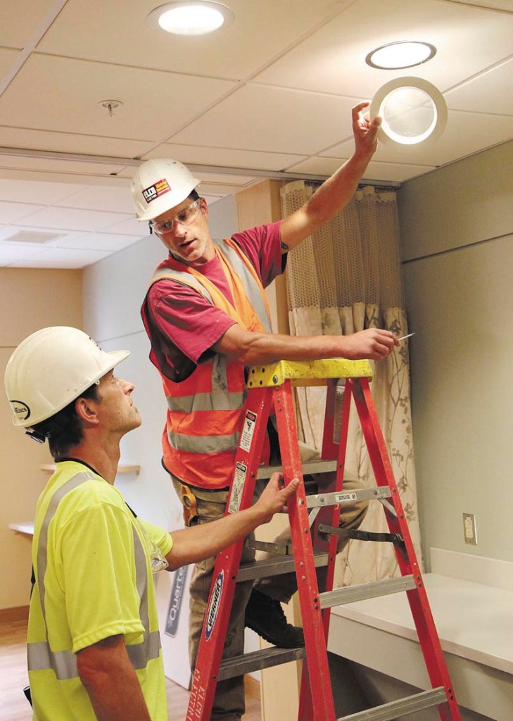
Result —
<path fill-rule="evenodd" d="M 200 185 L 189 168 L 177 160 L 147 160 L 138 167 L 132 180 L 132 198 L 136 217 L 151 221 L 182 203 Z"/>

